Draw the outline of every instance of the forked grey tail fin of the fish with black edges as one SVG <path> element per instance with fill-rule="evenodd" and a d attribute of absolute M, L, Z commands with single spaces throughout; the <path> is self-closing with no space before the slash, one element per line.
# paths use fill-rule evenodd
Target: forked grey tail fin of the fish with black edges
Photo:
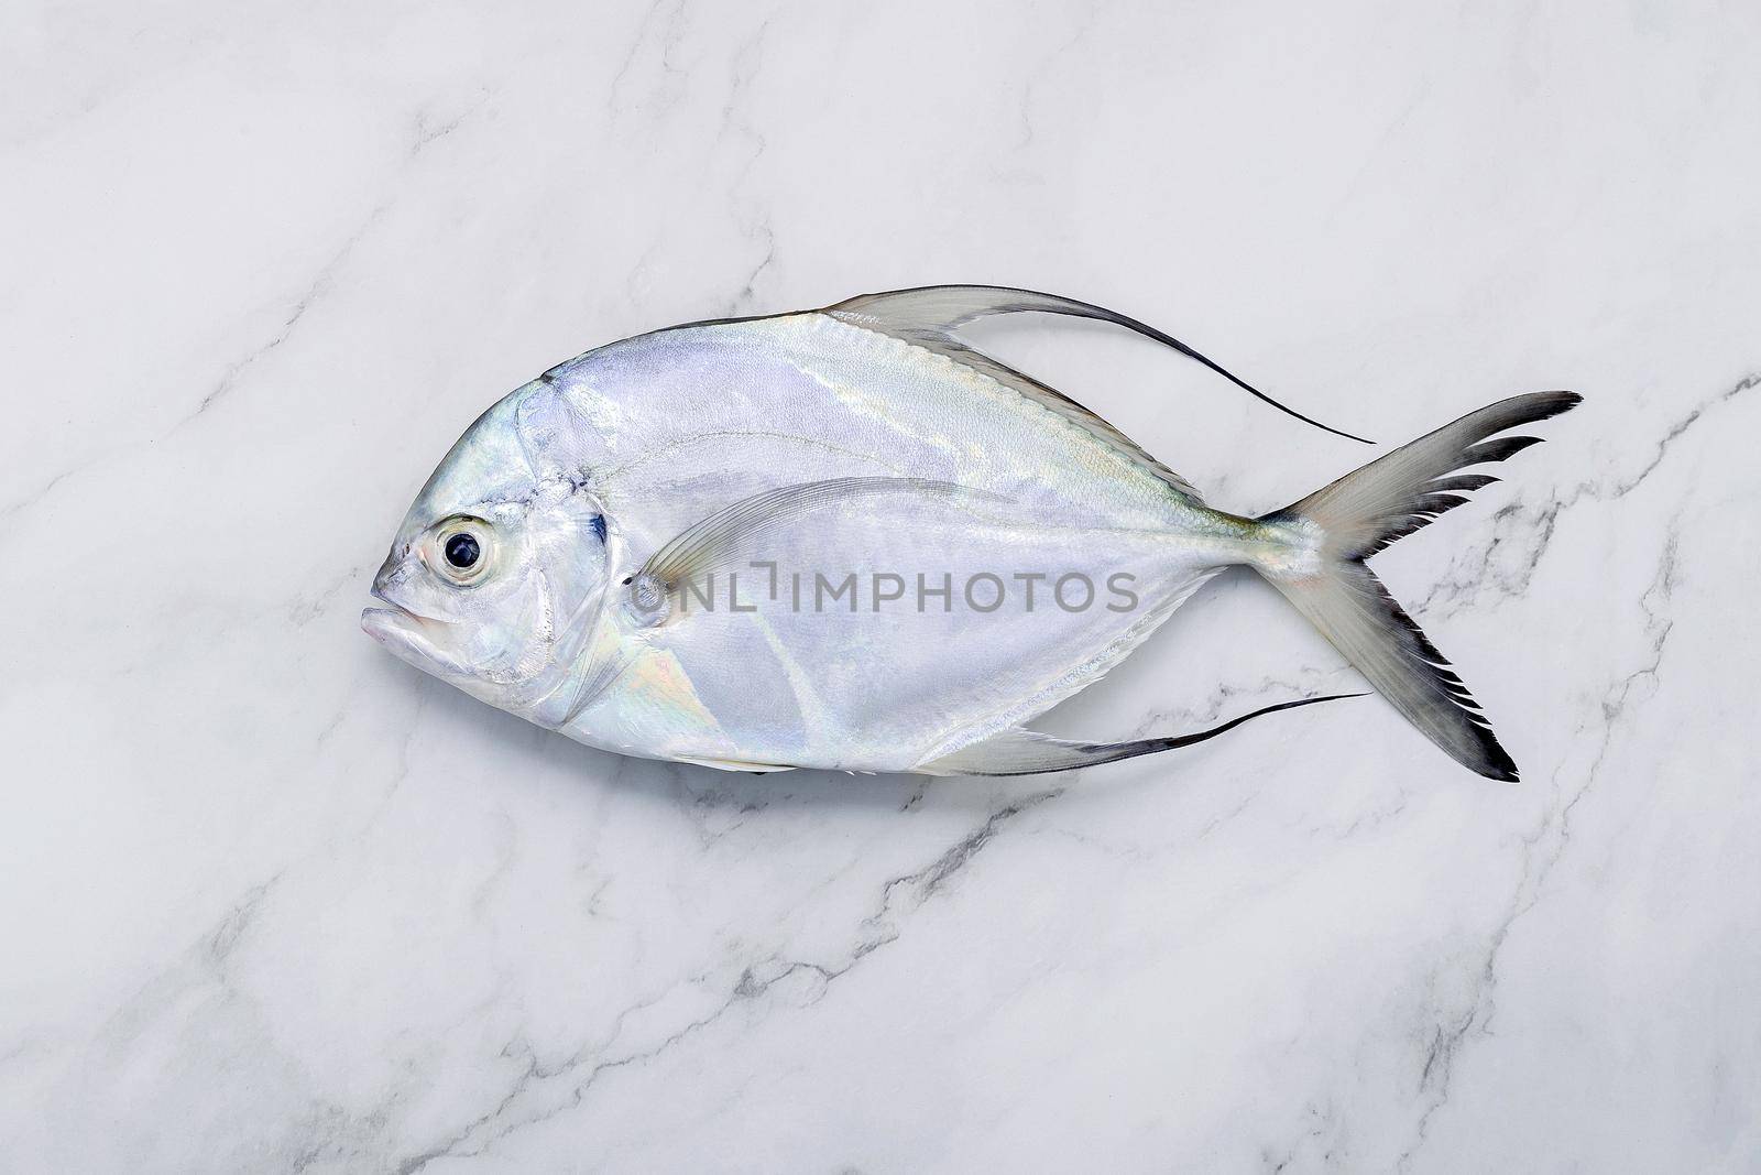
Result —
<path fill-rule="evenodd" d="M 1365 560 L 1462 506 L 1465 493 L 1497 481 L 1456 470 L 1502 462 L 1539 442 L 1539 437 L 1497 433 L 1558 416 L 1580 400 L 1571 391 L 1500 400 L 1259 520 L 1275 527 L 1282 541 L 1268 544 L 1254 569 L 1296 604 L 1395 710 L 1449 757 L 1486 779 L 1516 782 L 1516 763 L 1499 745 L 1479 703 L 1448 659 Z"/>

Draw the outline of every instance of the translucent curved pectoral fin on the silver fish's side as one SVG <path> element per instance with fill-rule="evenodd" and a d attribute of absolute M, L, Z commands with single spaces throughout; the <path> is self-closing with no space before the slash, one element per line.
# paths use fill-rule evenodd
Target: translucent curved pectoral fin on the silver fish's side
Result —
<path fill-rule="evenodd" d="M 752 558 L 764 555 L 763 546 L 770 536 L 815 509 L 896 493 L 949 502 L 1002 500 L 984 490 L 928 477 L 831 477 L 778 486 L 741 499 L 687 527 L 648 557 L 641 571 L 632 576 L 632 583 L 673 592 L 682 583 L 697 581 L 713 571 L 745 567 Z"/>

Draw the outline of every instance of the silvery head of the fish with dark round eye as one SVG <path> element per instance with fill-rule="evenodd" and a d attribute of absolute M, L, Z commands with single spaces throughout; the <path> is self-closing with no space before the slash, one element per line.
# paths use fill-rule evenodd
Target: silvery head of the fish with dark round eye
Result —
<path fill-rule="evenodd" d="M 481 701 L 551 724 L 606 595 L 592 449 L 542 381 L 484 412 L 398 527 L 373 576 L 384 608 L 361 613 L 368 636 Z"/>

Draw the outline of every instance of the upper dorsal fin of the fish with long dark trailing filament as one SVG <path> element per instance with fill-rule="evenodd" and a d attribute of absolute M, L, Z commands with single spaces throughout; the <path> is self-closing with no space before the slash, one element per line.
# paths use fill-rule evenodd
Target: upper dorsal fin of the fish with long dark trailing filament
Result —
<path fill-rule="evenodd" d="M 1296 419 L 1314 425 L 1323 432 L 1345 437 L 1349 440 L 1361 440 L 1363 444 L 1374 444 L 1363 437 L 1331 428 L 1317 419 L 1303 416 L 1296 409 L 1286 407 L 1259 391 L 1238 375 L 1224 370 L 1220 365 L 1205 358 L 1192 347 L 1185 345 L 1173 335 L 1155 329 L 1146 322 L 1139 322 L 1129 315 L 1118 314 L 1116 310 L 1108 310 L 1106 307 L 1095 307 L 1087 301 L 1076 301 L 1074 298 L 1060 298 L 1057 294 L 1041 294 L 1030 289 L 1011 289 L 1006 285 L 923 285 L 919 289 L 896 289 L 880 294 L 859 294 L 835 307 L 826 307 L 824 314 L 831 317 L 851 322 L 852 326 L 865 326 L 872 331 L 880 331 L 882 335 L 891 335 L 895 338 L 903 338 L 905 342 L 917 344 L 937 354 L 944 354 L 956 363 L 965 363 L 967 366 L 977 368 L 990 375 L 991 379 L 1014 388 L 1021 395 L 1044 403 L 1060 416 L 1076 421 L 1078 425 L 1088 428 L 1099 435 L 1108 444 L 1118 447 L 1136 463 L 1148 469 L 1152 474 L 1166 481 L 1169 486 L 1197 497 L 1192 484 L 1173 472 L 1153 456 L 1150 456 L 1143 446 L 1134 442 L 1131 437 L 1122 433 L 1118 428 L 1109 425 L 1094 410 L 1083 407 L 1076 400 L 1071 400 L 1055 388 L 1009 368 L 997 359 L 977 351 L 972 344 L 958 335 L 958 329 L 967 322 L 976 322 L 977 319 L 986 319 L 997 314 L 1023 314 L 1023 312 L 1041 312 L 1041 314 L 1065 314 L 1078 319 L 1097 319 L 1101 322 L 1111 322 L 1115 326 L 1124 326 L 1129 331 L 1136 331 L 1146 338 L 1153 338 L 1164 347 L 1173 347 L 1189 359 L 1203 363 L 1210 370 L 1217 372 L 1227 379 L 1236 388 L 1242 388 L 1257 400 L 1270 403 L 1271 407 L 1294 416 Z"/>

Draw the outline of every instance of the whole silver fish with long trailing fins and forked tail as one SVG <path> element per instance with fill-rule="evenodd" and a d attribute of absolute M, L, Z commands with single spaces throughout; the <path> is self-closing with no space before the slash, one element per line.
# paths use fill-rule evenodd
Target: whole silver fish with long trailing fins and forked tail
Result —
<path fill-rule="evenodd" d="M 1580 403 L 1500 400 L 1247 516 L 1099 414 L 979 351 L 1013 314 L 1180 340 L 997 285 L 863 294 L 673 326 L 560 363 L 491 405 L 409 507 L 361 624 L 400 659 L 623 756 L 720 770 L 1034 775 L 1187 747 L 1030 722 L 1101 680 L 1194 590 L 1245 565 L 1444 754 L 1518 768 L 1367 560 Z"/>

